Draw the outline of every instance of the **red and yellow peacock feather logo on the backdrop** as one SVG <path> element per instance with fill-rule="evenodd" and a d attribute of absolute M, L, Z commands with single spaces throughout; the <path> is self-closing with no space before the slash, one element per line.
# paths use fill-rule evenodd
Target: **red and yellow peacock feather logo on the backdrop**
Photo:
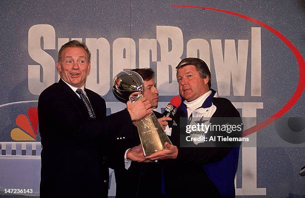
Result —
<path fill-rule="evenodd" d="M 16 117 L 16 125 L 10 132 L 11 139 L 15 141 L 36 141 L 38 130 L 38 110 L 37 107 L 30 107 L 27 116 L 19 114 Z"/>

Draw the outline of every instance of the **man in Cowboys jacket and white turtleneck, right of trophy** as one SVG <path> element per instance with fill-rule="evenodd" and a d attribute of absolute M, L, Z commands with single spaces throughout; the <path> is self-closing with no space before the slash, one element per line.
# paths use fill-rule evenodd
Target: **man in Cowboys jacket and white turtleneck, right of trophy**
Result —
<path fill-rule="evenodd" d="M 185 58 L 177 65 L 177 81 L 182 104 L 178 108 L 170 140 L 166 149 L 146 157 L 148 160 L 167 160 L 164 169 L 165 191 L 169 198 L 235 197 L 234 177 L 237 170 L 239 144 L 209 142 L 216 135 L 228 135 L 195 129 L 187 132 L 187 126 L 215 123 L 239 125 L 239 112 L 225 98 L 216 97 L 211 89 L 211 73 L 207 64 L 199 58 Z M 185 124 L 180 119 L 186 121 Z M 219 119 L 220 118 L 220 119 Z M 240 136 L 241 130 L 232 133 Z M 216 133 L 215 133 L 216 132 Z M 206 139 L 205 139 L 206 138 Z M 211 146 L 212 145 L 212 146 Z"/>

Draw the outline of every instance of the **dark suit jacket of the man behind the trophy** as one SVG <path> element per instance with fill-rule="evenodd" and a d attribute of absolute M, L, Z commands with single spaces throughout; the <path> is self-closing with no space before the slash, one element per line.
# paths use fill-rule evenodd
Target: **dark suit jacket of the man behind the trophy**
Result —
<path fill-rule="evenodd" d="M 162 114 L 154 111 L 157 118 Z M 117 140 L 125 150 L 138 146 L 141 141 L 136 127 L 134 137 Z M 125 167 L 115 169 L 116 198 L 160 198 L 161 197 L 161 166 L 160 163 L 132 162 L 128 170 Z"/>

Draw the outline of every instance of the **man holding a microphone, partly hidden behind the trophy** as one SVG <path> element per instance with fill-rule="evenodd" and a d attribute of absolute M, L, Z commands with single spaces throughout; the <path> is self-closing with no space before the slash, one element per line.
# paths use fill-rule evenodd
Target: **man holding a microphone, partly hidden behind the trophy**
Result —
<path fill-rule="evenodd" d="M 144 94 L 152 104 L 152 108 L 158 106 L 158 90 L 154 81 L 154 72 L 151 68 L 133 69 L 144 80 Z M 167 131 L 167 121 L 171 118 L 153 111 L 162 128 Z M 135 147 L 141 143 L 137 128 L 134 126 L 134 137 L 119 139 L 119 145 L 125 149 Z M 168 132 L 168 131 L 167 131 Z M 142 147 L 140 147 L 142 150 Z M 126 162 L 126 167 L 115 169 L 116 198 L 160 198 L 161 195 L 161 166 L 160 163 Z"/>

